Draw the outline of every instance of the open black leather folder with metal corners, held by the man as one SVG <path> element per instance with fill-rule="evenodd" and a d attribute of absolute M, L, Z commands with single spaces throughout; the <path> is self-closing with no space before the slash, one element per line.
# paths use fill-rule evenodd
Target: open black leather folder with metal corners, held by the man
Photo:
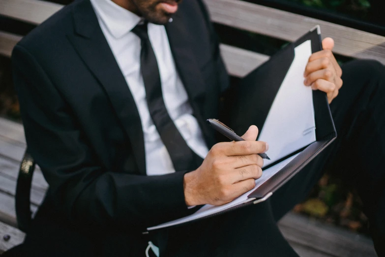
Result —
<path fill-rule="evenodd" d="M 241 79 L 237 89 L 233 92 L 235 94 L 235 102 L 232 104 L 231 108 L 232 113 L 228 124 L 230 128 L 233 128 L 236 132 L 246 131 L 250 125 L 254 124 L 260 128 L 260 131 L 262 130 L 274 98 L 294 60 L 294 49 L 296 46 L 309 39 L 311 40 L 311 50 L 313 53 L 322 50 L 320 28 L 317 26 L 300 37 L 296 42 L 286 45 L 278 53 L 272 56 L 265 64 L 262 64 Z M 254 191 L 252 191 L 252 193 L 249 193 L 247 195 L 247 199 L 249 200 L 224 210 L 212 212 L 204 217 L 186 219 L 189 217 L 187 216 L 167 224 L 150 227 L 148 230 L 156 230 L 175 225 L 182 225 L 193 221 L 195 222 L 200 219 L 216 216 L 246 205 L 257 204 L 265 201 L 278 188 L 289 181 L 306 164 L 323 151 L 337 136 L 326 93 L 321 91 L 312 91 L 312 94 L 316 141 L 302 149 L 298 149 L 296 152 L 289 153 L 287 156 L 275 161 L 274 163 L 271 163 L 271 165 L 274 165 L 275 163 L 281 162 L 299 153 L 292 161 L 286 164 L 272 177 L 267 179 L 266 182 L 257 187 Z"/>

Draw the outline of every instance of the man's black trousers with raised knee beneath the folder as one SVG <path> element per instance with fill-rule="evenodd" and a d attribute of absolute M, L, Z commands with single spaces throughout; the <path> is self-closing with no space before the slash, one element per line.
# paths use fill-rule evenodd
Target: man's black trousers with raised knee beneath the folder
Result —
<path fill-rule="evenodd" d="M 385 67 L 352 61 L 342 70 L 344 85 L 330 104 L 337 139 L 268 201 L 170 229 L 164 256 L 297 256 L 276 222 L 327 169 L 356 187 L 376 251 L 385 256 Z"/>

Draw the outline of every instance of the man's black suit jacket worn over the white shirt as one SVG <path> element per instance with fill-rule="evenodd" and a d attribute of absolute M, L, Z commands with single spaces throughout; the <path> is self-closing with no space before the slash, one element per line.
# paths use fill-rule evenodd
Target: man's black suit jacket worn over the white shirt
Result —
<path fill-rule="evenodd" d="M 205 119 L 218 116 L 228 75 L 207 10 L 201 0 L 183 1 L 165 27 L 211 147 Z M 12 65 L 29 151 L 49 183 L 36 220 L 59 215 L 77 229 L 134 234 L 191 212 L 185 172 L 146 176 L 139 113 L 89 0 L 64 7 L 24 37 Z"/>

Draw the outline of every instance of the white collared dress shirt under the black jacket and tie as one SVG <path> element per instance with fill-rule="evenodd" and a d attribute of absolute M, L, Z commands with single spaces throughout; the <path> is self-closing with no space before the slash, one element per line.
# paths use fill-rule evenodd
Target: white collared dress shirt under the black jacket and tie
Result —
<path fill-rule="evenodd" d="M 140 72 L 141 40 L 131 32 L 141 21 L 141 17 L 112 0 L 91 0 L 91 3 L 139 111 L 145 141 L 147 175 L 175 172 L 170 155 L 148 111 L 145 86 Z M 200 157 L 205 158 L 208 149 L 201 128 L 192 115 L 193 110 L 176 70 L 164 26 L 148 23 L 148 37 L 158 62 L 167 111 L 187 145 Z"/>

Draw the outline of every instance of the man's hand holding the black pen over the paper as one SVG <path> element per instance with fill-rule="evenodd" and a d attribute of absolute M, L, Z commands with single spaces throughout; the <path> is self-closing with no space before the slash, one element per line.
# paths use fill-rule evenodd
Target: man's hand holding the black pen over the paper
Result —
<path fill-rule="evenodd" d="M 184 197 L 188 206 L 222 205 L 255 187 L 262 176 L 263 159 L 268 145 L 255 141 L 258 128 L 251 126 L 242 136 L 246 141 L 214 145 L 202 165 L 184 175 Z"/>

